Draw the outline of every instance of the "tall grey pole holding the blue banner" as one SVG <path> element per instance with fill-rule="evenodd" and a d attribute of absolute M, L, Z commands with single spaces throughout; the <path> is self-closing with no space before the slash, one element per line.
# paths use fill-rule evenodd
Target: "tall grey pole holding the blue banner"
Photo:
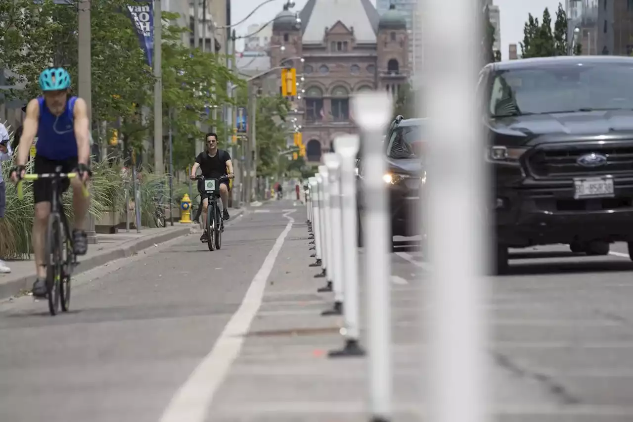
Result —
<path fill-rule="evenodd" d="M 163 162 L 163 61 L 161 44 L 163 43 L 163 13 L 161 0 L 154 0 L 154 173 L 164 173 Z"/>

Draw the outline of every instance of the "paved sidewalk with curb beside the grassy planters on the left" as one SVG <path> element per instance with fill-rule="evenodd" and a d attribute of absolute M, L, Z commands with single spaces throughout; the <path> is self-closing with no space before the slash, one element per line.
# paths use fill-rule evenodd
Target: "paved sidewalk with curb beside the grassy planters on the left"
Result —
<path fill-rule="evenodd" d="M 244 213 L 244 208 L 231 210 L 231 219 Z M 88 246 L 88 253 L 79 257 L 75 274 L 89 271 L 110 261 L 130 257 L 135 253 L 189 233 L 198 233 L 198 224 L 180 224 L 174 222 L 173 227 L 167 221 L 163 228 L 125 229 L 116 234 L 97 234 L 97 244 Z M 33 260 L 7 261 L 11 273 L 0 274 L 0 300 L 18 295 L 21 291 L 30 290 L 35 281 L 35 264 Z"/>

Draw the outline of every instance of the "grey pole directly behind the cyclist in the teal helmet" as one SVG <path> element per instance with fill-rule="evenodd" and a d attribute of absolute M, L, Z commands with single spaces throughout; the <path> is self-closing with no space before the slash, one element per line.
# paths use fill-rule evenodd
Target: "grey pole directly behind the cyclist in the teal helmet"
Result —
<path fill-rule="evenodd" d="M 88 122 L 89 131 L 92 131 L 92 63 L 91 58 L 91 27 L 90 27 L 90 9 L 91 0 L 81 0 L 78 10 L 78 34 L 77 44 L 79 56 L 78 61 L 78 94 L 80 98 L 83 98 L 88 109 Z M 94 217 L 88 212 L 88 227 L 86 230 L 86 236 L 88 243 L 94 245 L 97 243 L 97 234 L 94 231 Z"/>

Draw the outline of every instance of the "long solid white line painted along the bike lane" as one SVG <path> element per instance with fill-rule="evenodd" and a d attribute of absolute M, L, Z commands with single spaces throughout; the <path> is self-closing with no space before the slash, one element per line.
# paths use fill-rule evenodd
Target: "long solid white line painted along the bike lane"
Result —
<path fill-rule="evenodd" d="M 211 352 L 204 357 L 203 361 L 173 396 L 163 412 L 160 422 L 204 422 L 206 420 L 213 396 L 229 373 L 231 365 L 239 356 L 244 343 L 244 335 L 248 332 L 254 316 L 260 309 L 266 280 L 273 270 L 275 260 L 277 260 L 284 240 L 294 223 L 294 219 L 289 216 L 293 211 L 284 214 L 289 222 L 275 241 L 275 245 L 268 252 L 260 271 L 255 274 L 239 309 L 235 311 L 229 323 L 224 327 L 222 334 L 211 348 Z"/>

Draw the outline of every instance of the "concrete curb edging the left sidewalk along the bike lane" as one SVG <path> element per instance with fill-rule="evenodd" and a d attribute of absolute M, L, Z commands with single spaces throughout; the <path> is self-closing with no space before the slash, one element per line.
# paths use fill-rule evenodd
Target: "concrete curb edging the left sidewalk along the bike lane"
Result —
<path fill-rule="evenodd" d="M 158 243 L 164 243 L 166 241 L 179 238 L 191 233 L 191 227 L 182 227 L 182 229 L 170 230 L 167 233 L 157 234 L 156 236 L 147 236 L 147 238 L 140 238 L 139 240 L 130 240 L 122 243 L 115 249 L 108 252 L 94 255 L 84 260 L 80 260 L 77 267 L 75 267 L 74 274 L 80 274 L 81 272 L 89 271 L 101 265 L 107 264 L 113 260 L 131 257 L 141 250 L 147 249 Z M 15 280 L 8 281 L 0 285 L 0 300 L 15 296 L 20 291 L 30 289 L 35 282 L 35 274 L 24 276 Z"/>

